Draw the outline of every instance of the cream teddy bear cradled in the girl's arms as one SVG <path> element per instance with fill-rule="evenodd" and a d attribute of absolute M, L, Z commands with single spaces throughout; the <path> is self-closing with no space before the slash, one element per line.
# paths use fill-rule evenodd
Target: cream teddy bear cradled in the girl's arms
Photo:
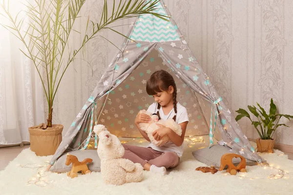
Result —
<path fill-rule="evenodd" d="M 170 140 L 168 136 L 162 137 L 160 141 L 157 141 L 154 139 L 154 137 L 152 136 L 152 133 L 155 130 L 160 128 L 160 126 L 158 126 L 157 124 L 161 124 L 165 127 L 170 128 L 178 136 L 182 135 L 181 126 L 179 124 L 177 124 L 172 118 L 168 118 L 167 120 L 158 120 L 159 117 L 157 115 L 152 115 L 150 112 L 148 112 L 146 110 L 141 110 L 141 111 L 139 111 L 139 114 L 140 113 L 146 114 L 146 115 L 150 116 L 150 118 L 151 118 L 151 121 L 149 123 L 139 123 L 139 127 L 141 130 L 143 130 L 147 134 L 148 138 L 150 139 L 150 141 L 154 145 L 163 146 L 165 143 L 167 143 L 167 141 Z"/>

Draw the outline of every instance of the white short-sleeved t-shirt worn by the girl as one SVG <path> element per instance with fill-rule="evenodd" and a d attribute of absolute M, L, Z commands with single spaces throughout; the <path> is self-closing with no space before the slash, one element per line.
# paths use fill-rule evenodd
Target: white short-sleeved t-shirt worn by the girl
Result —
<path fill-rule="evenodd" d="M 152 114 L 157 113 L 157 103 L 152 103 L 147 111 L 151 112 Z M 182 106 L 179 102 L 176 104 L 177 106 L 177 116 L 176 116 L 176 123 L 180 124 L 183 122 L 188 121 L 188 114 L 187 110 L 184 106 Z M 174 108 L 167 114 L 164 114 L 162 107 L 159 110 L 159 114 L 162 120 L 167 120 L 168 118 L 173 118 L 175 115 Z M 164 146 L 156 146 L 153 143 L 148 144 L 147 147 L 151 147 L 153 150 L 160 151 L 160 152 L 175 152 L 179 157 L 183 155 L 183 144 L 181 146 L 176 146 L 173 142 L 168 141 Z"/>

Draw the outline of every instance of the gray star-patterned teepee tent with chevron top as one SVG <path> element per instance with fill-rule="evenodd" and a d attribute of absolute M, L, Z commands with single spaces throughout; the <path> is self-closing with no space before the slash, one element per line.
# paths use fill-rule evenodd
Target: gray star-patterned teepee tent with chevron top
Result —
<path fill-rule="evenodd" d="M 156 12 L 170 16 L 163 0 L 158 2 Z M 134 118 L 139 110 L 147 109 L 153 102 L 146 94 L 146 81 L 160 69 L 173 75 L 178 88 L 177 100 L 188 110 L 186 136 L 209 135 L 211 145 L 214 133 L 218 132 L 230 152 L 262 161 L 203 72 L 172 17 L 165 21 L 142 15 L 126 36 L 130 39 L 125 39 L 107 66 L 63 137 L 51 164 L 65 152 L 87 149 L 95 123 L 104 124 L 118 137 L 141 137 Z"/>

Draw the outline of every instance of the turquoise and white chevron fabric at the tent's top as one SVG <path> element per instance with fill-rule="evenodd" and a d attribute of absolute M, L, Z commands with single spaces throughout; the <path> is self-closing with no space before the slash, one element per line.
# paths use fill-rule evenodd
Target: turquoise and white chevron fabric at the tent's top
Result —
<path fill-rule="evenodd" d="M 167 16 L 161 2 L 158 2 L 155 12 Z M 175 41 L 179 40 L 176 30 L 177 26 L 171 22 L 145 14 L 138 18 L 129 38 L 149 42 Z"/>

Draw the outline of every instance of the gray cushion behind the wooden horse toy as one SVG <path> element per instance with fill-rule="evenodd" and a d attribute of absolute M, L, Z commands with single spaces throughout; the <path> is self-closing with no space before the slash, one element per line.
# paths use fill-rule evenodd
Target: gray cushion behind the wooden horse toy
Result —
<path fill-rule="evenodd" d="M 87 167 L 92 172 L 100 172 L 101 171 L 101 160 L 98 156 L 97 150 L 77 150 L 69 152 L 70 155 L 74 155 L 78 158 L 79 161 L 83 161 L 85 158 L 91 158 L 93 161 L 91 163 L 87 163 Z M 55 164 L 50 168 L 50 171 L 55 173 L 65 173 L 69 172 L 72 167 L 72 163 L 70 165 L 65 165 L 66 154 L 58 158 Z"/>

